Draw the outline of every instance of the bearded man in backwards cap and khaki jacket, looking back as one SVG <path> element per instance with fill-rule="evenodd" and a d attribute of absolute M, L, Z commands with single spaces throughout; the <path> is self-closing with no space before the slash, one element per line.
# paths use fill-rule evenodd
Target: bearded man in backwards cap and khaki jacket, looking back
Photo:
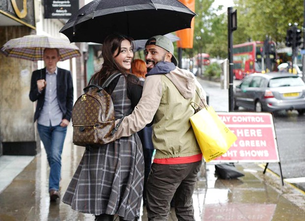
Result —
<path fill-rule="evenodd" d="M 116 133 L 116 138 L 129 136 L 153 119 L 156 152 L 147 182 L 149 221 L 167 220 L 173 197 L 178 220 L 194 220 L 192 194 L 202 153 L 189 122 L 194 114 L 190 102 L 200 104 L 202 99 L 206 104 L 206 98 L 193 74 L 176 67 L 173 53 L 173 43 L 165 36 L 153 36 L 147 41 L 149 72 L 141 100 Z"/>

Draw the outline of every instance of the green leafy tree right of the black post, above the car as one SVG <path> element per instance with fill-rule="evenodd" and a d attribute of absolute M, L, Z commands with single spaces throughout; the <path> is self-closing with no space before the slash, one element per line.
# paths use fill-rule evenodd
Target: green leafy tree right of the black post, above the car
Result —
<path fill-rule="evenodd" d="M 238 29 L 234 44 L 264 40 L 266 35 L 284 42 L 288 23 L 303 24 L 304 0 L 235 0 Z"/>

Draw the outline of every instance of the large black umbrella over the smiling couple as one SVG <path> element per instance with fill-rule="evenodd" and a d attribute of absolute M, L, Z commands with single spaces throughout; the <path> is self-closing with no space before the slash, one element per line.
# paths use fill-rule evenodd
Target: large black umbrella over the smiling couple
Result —
<path fill-rule="evenodd" d="M 94 0 L 61 28 L 70 42 L 103 43 L 119 32 L 135 40 L 190 28 L 196 14 L 178 0 Z"/>

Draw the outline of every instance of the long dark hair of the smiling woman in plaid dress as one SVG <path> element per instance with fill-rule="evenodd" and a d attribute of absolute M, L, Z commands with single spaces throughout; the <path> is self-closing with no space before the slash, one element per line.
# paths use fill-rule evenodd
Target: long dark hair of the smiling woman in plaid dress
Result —
<path fill-rule="evenodd" d="M 104 63 L 102 65 L 101 70 L 96 72 L 91 77 L 90 83 L 92 82 L 102 85 L 102 83 L 104 83 L 104 81 L 115 72 L 119 71 L 124 75 L 129 73 L 121 65 L 117 64 L 114 59 L 114 57 L 118 56 L 121 52 L 121 44 L 123 40 L 128 40 L 130 44 L 134 46 L 133 39 L 131 37 L 124 36 L 121 34 L 110 34 L 105 38 L 102 46 L 102 55 L 104 58 Z M 118 54 L 114 56 L 113 54 L 117 49 Z"/>

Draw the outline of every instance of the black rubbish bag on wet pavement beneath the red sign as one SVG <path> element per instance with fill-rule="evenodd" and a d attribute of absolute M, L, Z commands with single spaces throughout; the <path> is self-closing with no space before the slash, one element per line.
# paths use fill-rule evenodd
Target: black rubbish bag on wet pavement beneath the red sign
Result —
<path fill-rule="evenodd" d="M 238 171 L 238 169 L 233 164 L 216 164 L 215 173 L 225 180 L 236 179 L 238 177 L 244 176 L 243 173 Z"/>

